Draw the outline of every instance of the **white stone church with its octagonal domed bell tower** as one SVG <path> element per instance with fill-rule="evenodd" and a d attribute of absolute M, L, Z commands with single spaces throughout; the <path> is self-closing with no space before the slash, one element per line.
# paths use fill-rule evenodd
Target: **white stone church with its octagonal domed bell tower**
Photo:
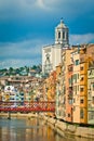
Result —
<path fill-rule="evenodd" d="M 68 28 L 61 20 L 55 28 L 55 43 L 42 48 L 42 73 L 49 74 L 62 63 L 62 50 L 69 47 Z"/>

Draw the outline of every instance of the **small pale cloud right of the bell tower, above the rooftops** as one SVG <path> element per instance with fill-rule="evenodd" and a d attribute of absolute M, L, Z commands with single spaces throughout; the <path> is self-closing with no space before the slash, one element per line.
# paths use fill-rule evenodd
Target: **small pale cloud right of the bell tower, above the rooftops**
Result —
<path fill-rule="evenodd" d="M 70 35 L 70 44 L 94 42 L 94 34 Z"/>

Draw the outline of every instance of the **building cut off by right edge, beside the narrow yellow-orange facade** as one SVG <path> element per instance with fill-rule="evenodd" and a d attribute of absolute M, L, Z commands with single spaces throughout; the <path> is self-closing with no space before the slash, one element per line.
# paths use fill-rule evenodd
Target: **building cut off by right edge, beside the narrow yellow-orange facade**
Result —
<path fill-rule="evenodd" d="M 94 125 L 94 44 L 88 50 L 88 124 Z"/>

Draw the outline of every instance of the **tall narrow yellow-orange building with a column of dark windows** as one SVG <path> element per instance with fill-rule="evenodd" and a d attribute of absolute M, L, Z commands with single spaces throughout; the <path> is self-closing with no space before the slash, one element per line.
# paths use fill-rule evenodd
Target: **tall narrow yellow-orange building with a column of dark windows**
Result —
<path fill-rule="evenodd" d="M 80 51 L 80 123 L 88 124 L 88 61 L 86 48 Z"/>

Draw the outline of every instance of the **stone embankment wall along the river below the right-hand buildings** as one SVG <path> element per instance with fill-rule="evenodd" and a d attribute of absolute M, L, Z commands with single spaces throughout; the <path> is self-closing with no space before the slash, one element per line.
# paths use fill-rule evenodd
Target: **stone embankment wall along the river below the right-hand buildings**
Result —
<path fill-rule="evenodd" d="M 59 129 L 65 134 L 94 139 L 94 128 L 70 125 L 68 123 L 59 121 L 51 117 L 43 117 L 43 118 L 44 120 L 46 120 L 46 123 L 53 125 L 54 128 Z"/>

